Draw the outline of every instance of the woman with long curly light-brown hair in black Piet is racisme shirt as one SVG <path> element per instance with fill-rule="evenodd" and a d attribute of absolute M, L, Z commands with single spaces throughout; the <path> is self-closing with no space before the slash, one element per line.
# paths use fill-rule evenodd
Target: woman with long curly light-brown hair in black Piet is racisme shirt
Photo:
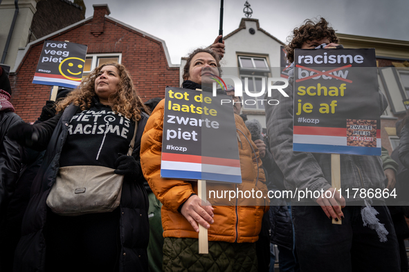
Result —
<path fill-rule="evenodd" d="M 24 215 L 15 271 L 147 271 L 148 203 L 139 150 L 148 115 L 129 72 L 116 63 L 96 68 L 56 109 L 46 122 L 20 123 L 10 131 L 24 146 L 46 148 Z M 122 155 L 136 125 L 133 153 Z M 104 166 L 124 175 L 118 208 L 78 216 L 53 213 L 46 200 L 68 166 Z"/>

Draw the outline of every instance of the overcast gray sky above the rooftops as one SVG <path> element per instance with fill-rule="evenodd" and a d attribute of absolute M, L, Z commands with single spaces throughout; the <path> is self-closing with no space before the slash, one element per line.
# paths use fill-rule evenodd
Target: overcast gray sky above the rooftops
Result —
<path fill-rule="evenodd" d="M 85 0 L 85 17 L 93 4 L 107 3 L 110 17 L 163 39 L 180 64 L 194 48 L 208 46 L 219 33 L 219 0 Z M 239 27 L 244 0 L 224 0 L 224 35 Z M 260 27 L 285 43 L 293 28 L 322 16 L 337 32 L 409 41 L 409 0 L 249 0 Z M 228 48 L 226 48 L 228 50 Z"/>

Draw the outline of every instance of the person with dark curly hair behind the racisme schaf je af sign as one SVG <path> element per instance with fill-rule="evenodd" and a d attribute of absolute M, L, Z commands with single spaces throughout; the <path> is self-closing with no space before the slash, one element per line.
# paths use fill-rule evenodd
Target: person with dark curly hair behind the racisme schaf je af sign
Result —
<path fill-rule="evenodd" d="M 335 31 L 324 18 L 306 20 L 293 30 L 287 46 L 287 58 L 294 60 L 294 50 L 342 48 Z M 383 200 L 367 200 L 349 195 L 345 199 L 331 187 L 331 155 L 293 151 L 293 64 L 289 70 L 289 97 L 272 93 L 280 105 L 266 105 L 266 126 L 271 153 L 284 175 L 287 190 L 320 191 L 293 202 L 291 214 L 296 235 L 300 271 L 400 271 L 397 236 Z M 379 116 L 388 102 L 379 93 Z M 341 188 L 385 188 L 381 159 L 376 156 L 340 155 Z M 342 210 L 341 210 L 342 206 Z M 332 219 L 342 224 L 332 224 Z M 376 260 L 376 261 L 374 261 Z"/>

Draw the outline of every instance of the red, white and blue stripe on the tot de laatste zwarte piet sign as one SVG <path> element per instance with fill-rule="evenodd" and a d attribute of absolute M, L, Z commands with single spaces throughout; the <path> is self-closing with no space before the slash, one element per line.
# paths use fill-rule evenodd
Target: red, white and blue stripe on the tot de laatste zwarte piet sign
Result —
<path fill-rule="evenodd" d="M 242 183 L 239 159 L 162 153 L 161 177 Z"/>

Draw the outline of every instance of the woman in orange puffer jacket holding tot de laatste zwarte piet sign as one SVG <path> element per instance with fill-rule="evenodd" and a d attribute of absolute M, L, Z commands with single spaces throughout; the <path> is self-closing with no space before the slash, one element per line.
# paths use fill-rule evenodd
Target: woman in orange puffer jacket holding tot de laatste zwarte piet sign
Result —
<path fill-rule="evenodd" d="M 189 56 L 183 70 L 183 88 L 201 88 L 209 81 L 202 71 L 219 74 L 215 52 L 197 49 Z M 202 80 L 203 79 L 203 80 Z M 206 82 L 208 83 L 208 82 Z M 268 211 L 266 199 L 232 200 L 228 206 L 201 205 L 197 182 L 161 178 L 161 150 L 165 100 L 156 106 L 149 118 L 140 148 L 145 179 L 163 204 L 162 224 L 163 271 L 257 271 L 255 242 L 260 233 L 262 217 Z M 218 190 L 263 191 L 266 184 L 262 162 L 251 134 L 239 115 L 235 115 L 242 184 L 219 184 Z M 246 139 L 247 138 L 247 139 Z M 252 147 L 253 146 L 253 147 Z M 255 150 L 255 152 L 253 152 Z M 226 205 L 227 200 L 217 200 Z M 255 206 L 237 206 L 255 205 Z M 208 229 L 209 254 L 198 253 L 197 223 Z"/>

